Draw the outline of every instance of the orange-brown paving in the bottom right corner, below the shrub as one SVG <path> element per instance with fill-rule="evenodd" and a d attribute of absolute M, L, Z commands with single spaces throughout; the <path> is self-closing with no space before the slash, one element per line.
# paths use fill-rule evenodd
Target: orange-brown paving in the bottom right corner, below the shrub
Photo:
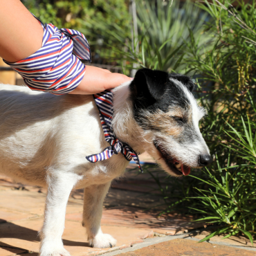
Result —
<path fill-rule="evenodd" d="M 219 246 L 207 242 L 198 244 L 188 239 L 174 239 L 160 244 L 154 244 L 129 253 L 117 256 L 255 256 L 256 252 Z"/>

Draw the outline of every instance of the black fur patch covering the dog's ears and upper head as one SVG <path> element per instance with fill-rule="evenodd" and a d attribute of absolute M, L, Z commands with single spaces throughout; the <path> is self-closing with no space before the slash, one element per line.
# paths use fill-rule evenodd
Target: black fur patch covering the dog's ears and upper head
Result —
<path fill-rule="evenodd" d="M 168 74 L 164 71 L 152 71 L 143 68 L 137 71 L 131 82 L 131 100 L 134 102 L 134 118 L 144 128 L 147 120 L 141 115 L 145 110 L 151 113 L 161 110 L 167 112 L 170 106 L 188 108 L 188 98 L 179 85 L 170 81 L 170 78 L 178 80 L 190 91 L 194 84 L 190 77 L 179 74 Z"/>

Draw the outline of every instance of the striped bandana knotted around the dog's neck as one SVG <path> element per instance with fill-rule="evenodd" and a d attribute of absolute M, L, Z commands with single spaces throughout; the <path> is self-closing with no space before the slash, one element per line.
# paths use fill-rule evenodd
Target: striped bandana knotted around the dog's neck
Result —
<path fill-rule="evenodd" d="M 103 91 L 102 93 L 97 93 L 93 95 L 94 101 L 98 110 L 100 112 L 100 122 L 104 131 L 104 138 L 110 144 L 101 153 L 93 154 L 91 156 L 86 156 L 86 159 L 91 163 L 96 163 L 110 158 L 113 154 L 122 153 L 127 161 L 134 159 L 135 163 L 138 165 L 140 170 L 140 161 L 138 155 L 134 150 L 129 147 L 129 145 L 120 142 L 113 134 L 111 128 L 111 121 L 113 118 L 113 93 L 111 90 Z"/>

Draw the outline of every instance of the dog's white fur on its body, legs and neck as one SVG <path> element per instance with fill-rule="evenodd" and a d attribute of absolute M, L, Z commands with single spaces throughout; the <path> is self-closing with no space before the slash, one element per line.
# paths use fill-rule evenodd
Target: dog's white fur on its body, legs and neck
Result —
<path fill-rule="evenodd" d="M 148 149 L 154 158 L 161 158 L 152 143 L 154 134 L 143 131 L 133 118 L 129 82 L 114 89 L 113 104 L 116 136 L 136 152 Z M 208 148 L 203 143 L 202 139 L 205 152 Z M 91 95 L 56 96 L 1 84 L 0 172 L 18 182 L 48 188 L 39 255 L 69 255 L 62 232 L 73 188 L 84 188 L 83 226 L 89 244 L 116 245 L 116 239 L 101 231 L 102 203 L 111 181 L 125 172 L 128 162 L 122 154 L 98 163 L 85 158 L 107 146 Z M 165 162 L 159 161 L 167 170 Z"/>

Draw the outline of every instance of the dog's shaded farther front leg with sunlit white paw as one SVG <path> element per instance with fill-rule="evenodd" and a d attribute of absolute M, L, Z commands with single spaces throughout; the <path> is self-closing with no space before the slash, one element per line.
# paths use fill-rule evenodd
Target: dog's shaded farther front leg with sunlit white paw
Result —
<path fill-rule="evenodd" d="M 95 248 L 108 248 L 116 246 L 116 239 L 111 235 L 103 234 L 100 228 L 102 206 L 110 182 L 104 185 L 91 185 L 84 188 L 83 226 L 86 227 L 90 246 Z"/>

